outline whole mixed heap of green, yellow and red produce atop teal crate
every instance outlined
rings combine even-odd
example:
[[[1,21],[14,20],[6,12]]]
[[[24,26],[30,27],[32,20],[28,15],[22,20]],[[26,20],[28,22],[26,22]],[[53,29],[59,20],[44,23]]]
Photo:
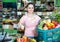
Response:
[[[42,29],[42,30],[50,30],[50,29],[56,28],[57,25],[58,25],[57,21],[47,19],[47,20],[44,20],[44,21],[40,21],[40,24],[38,25],[38,28]]]

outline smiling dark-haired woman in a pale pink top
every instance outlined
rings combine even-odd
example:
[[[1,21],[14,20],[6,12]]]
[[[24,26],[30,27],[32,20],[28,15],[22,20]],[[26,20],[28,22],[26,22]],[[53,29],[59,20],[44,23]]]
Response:
[[[24,15],[20,19],[20,21],[18,23],[19,27],[21,26],[22,28],[25,29],[24,35],[27,36],[28,38],[34,38],[37,36],[36,27],[41,19],[39,16],[34,14],[34,7],[35,6],[33,3],[28,3],[28,5],[27,5],[28,12],[26,15]]]

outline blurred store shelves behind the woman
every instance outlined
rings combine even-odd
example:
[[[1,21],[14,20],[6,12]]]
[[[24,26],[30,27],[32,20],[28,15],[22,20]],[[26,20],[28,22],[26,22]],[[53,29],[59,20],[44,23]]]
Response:
[[[60,14],[60,0],[0,0],[0,28],[17,28],[19,19],[27,13],[24,8],[29,2],[35,4],[35,14],[42,19]]]

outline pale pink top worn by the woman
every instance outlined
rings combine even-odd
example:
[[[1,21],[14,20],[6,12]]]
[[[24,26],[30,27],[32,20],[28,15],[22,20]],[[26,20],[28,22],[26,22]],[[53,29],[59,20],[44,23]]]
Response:
[[[24,24],[25,27],[25,36],[37,36],[37,32],[36,32],[36,26],[38,25],[39,21],[40,21],[40,17],[37,15],[34,15],[34,20],[30,19],[27,15],[24,15],[21,19],[20,19],[20,23]]]

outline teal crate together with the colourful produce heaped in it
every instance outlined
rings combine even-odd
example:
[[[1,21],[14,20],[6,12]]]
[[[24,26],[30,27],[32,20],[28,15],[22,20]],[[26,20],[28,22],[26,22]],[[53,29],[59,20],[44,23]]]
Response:
[[[54,18],[55,17],[55,18]],[[60,42],[60,15],[45,17],[38,25],[38,42]]]

